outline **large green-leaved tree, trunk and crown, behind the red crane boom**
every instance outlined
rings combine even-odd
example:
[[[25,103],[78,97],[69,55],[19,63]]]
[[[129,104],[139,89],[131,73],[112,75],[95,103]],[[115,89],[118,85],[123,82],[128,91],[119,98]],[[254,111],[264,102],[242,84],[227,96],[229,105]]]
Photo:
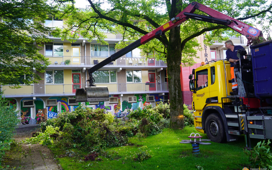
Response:
[[[73,30],[80,32],[80,35],[89,40],[95,39],[102,44],[107,44],[103,34],[103,30],[107,30],[123,35],[124,41],[117,44],[117,48],[125,47],[152,29],[168,22],[170,18],[175,17],[192,2],[181,0],[104,0],[95,3],[88,0],[89,7],[79,9],[74,7],[74,1],[67,0],[68,4],[64,4],[64,1],[59,1],[62,9],[59,17],[68,19],[67,29],[57,32],[61,33],[63,39],[75,40],[77,34],[71,35],[71,30]],[[249,18],[259,19],[258,21],[271,21],[271,3],[265,4],[265,0],[206,0],[197,2],[243,22]],[[109,8],[102,9],[103,4],[107,4]],[[195,13],[204,14],[201,11]],[[152,53],[157,59],[167,61],[171,128],[184,127],[180,64],[194,63],[194,56],[199,48],[197,36],[210,31],[207,35],[208,41],[206,41],[209,43],[215,38],[222,38],[222,31],[225,30],[227,30],[226,26],[188,20],[181,26],[166,32],[165,35],[139,47],[145,56],[148,57]],[[154,56],[151,55],[151,57]]]

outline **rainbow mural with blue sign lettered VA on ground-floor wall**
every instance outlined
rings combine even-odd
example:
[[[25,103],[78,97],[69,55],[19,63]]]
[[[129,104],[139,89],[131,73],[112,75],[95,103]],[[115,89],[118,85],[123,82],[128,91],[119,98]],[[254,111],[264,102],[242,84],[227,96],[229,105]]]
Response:
[[[61,113],[63,113],[63,112],[70,112],[71,111],[70,106],[68,106],[68,98],[69,97],[50,97],[48,99],[57,99],[57,103],[59,103],[59,102],[61,103],[60,110],[61,110]],[[57,106],[47,107],[47,110],[48,110],[48,118],[49,119],[58,115],[58,107]]]

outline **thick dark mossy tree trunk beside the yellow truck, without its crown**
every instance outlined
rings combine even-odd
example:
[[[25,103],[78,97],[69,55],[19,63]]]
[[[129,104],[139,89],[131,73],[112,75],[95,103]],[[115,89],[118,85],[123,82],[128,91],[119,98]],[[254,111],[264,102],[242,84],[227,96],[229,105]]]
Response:
[[[180,27],[169,32],[169,45],[167,47],[167,75],[170,99],[170,128],[183,129],[183,99],[180,84],[181,64],[181,38]]]

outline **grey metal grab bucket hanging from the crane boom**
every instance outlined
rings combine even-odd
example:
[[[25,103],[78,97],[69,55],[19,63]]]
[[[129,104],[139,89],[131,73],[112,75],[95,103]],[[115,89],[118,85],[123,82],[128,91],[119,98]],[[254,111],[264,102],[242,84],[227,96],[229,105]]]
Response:
[[[85,87],[76,89],[76,102],[109,101],[108,87]]]

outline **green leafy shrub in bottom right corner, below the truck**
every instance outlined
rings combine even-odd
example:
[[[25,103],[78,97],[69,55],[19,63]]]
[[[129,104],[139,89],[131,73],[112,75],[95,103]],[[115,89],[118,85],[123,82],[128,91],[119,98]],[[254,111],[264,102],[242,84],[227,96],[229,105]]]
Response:
[[[272,169],[272,152],[271,147],[269,146],[270,140],[267,141],[267,143],[264,141],[259,141],[257,145],[249,150],[245,149],[244,152],[247,156],[249,156],[249,160],[255,168],[258,166],[258,168],[262,169]]]

